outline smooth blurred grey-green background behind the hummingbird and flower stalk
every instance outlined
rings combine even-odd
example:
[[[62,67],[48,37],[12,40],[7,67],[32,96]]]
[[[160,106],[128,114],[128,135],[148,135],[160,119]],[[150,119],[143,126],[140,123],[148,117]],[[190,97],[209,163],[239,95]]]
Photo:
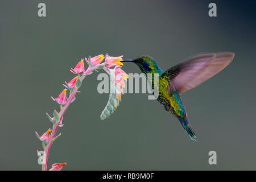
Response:
[[[232,51],[224,71],[182,95],[197,142],[148,94],[125,94],[102,122],[109,95],[97,92],[94,73],[64,115],[48,168],[67,162],[64,170],[255,170],[255,18],[256,1],[1,1],[0,169],[41,169],[35,131],[52,126],[45,113],[58,106],[50,96],[74,77],[69,69],[81,58],[151,55],[166,70],[195,53]],[[123,69],[140,72],[135,64]],[[217,165],[210,166],[212,150]]]

